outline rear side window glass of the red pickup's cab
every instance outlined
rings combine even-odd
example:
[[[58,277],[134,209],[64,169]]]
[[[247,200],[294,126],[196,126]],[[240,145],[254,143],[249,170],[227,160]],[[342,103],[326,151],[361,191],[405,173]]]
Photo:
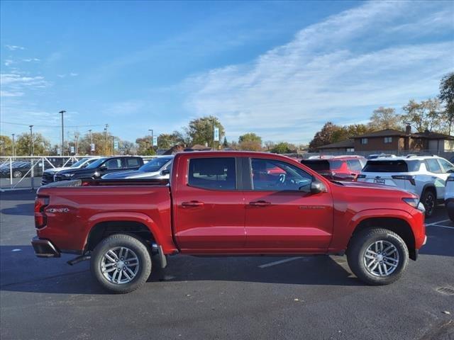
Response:
[[[236,190],[236,160],[234,157],[189,159],[187,183],[209,190]]]

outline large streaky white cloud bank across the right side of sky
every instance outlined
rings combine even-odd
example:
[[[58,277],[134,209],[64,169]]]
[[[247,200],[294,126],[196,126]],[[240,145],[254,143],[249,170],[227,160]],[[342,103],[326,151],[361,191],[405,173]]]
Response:
[[[191,77],[184,82],[187,108],[217,115],[230,138],[252,131],[264,140],[307,142],[327,120],[355,123],[374,107],[433,96],[453,69],[454,42],[411,38],[432,32],[434,22],[452,30],[453,11],[414,6],[366,3],[304,28],[250,64]],[[406,21],[417,25],[402,28]]]

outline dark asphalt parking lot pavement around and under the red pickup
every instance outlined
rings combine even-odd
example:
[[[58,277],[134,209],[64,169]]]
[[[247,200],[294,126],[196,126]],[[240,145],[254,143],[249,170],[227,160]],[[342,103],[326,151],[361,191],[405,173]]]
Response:
[[[87,261],[34,256],[33,192],[0,196],[2,340],[454,339],[454,224],[443,206],[392,285],[363,285],[342,256],[179,255],[165,270],[154,263],[140,290],[109,295]]]

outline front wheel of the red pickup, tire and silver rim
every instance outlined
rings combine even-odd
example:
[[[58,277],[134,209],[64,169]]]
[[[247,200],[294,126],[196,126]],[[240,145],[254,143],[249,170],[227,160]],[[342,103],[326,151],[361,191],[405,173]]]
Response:
[[[350,240],[348,266],[369,285],[389,285],[409,263],[409,250],[398,234],[388,229],[365,229]]]

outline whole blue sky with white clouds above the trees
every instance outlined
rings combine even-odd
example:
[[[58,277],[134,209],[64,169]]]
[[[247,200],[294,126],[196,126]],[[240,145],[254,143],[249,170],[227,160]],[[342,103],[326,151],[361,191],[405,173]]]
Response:
[[[108,123],[133,141],[216,115],[228,140],[305,143],[327,120],[436,96],[454,70],[453,1],[0,6],[1,122],[55,143],[60,110],[71,134]]]

